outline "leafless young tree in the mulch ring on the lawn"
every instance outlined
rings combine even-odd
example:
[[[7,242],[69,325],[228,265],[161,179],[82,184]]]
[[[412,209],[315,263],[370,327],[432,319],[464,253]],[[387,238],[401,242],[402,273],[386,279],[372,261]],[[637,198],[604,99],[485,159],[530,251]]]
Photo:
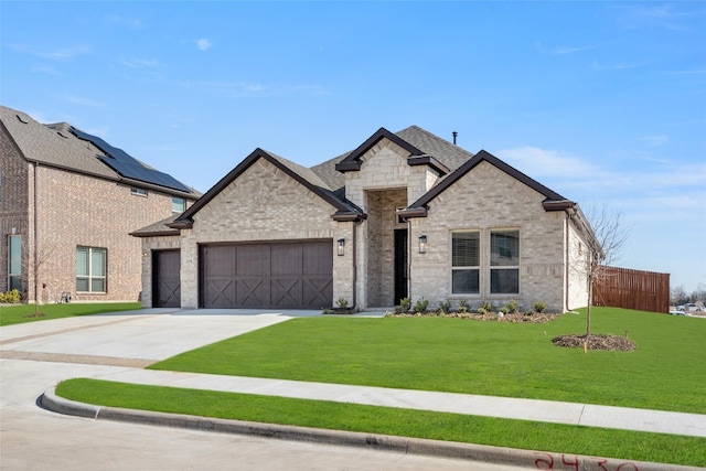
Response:
[[[580,212],[580,210],[578,211]],[[588,340],[591,334],[591,304],[595,285],[608,276],[606,267],[616,264],[620,258],[629,232],[624,226],[622,212],[609,211],[606,205],[600,210],[590,207],[588,216],[579,217],[579,220],[588,222],[588,224],[576,224],[582,235],[582,240],[579,244],[585,244],[586,250],[579,250],[582,253],[581,259],[578,264],[573,265],[571,269],[585,277],[588,285],[586,303],[586,339]]]

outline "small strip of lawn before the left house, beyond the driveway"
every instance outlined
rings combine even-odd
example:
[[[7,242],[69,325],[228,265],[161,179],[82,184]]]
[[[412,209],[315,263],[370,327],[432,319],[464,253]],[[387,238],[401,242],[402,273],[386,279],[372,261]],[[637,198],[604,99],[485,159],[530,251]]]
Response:
[[[101,314],[106,312],[132,311],[142,307],[139,302],[72,302],[68,304],[0,304],[0,327],[74,315]],[[34,311],[43,315],[35,315]]]

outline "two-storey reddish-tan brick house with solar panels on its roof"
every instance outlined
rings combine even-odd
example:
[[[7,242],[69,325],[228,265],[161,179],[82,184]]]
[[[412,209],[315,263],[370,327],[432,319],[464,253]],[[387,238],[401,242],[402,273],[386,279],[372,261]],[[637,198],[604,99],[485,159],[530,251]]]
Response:
[[[201,194],[71,125],[0,113],[0,291],[137,301],[141,247],[129,232]]]

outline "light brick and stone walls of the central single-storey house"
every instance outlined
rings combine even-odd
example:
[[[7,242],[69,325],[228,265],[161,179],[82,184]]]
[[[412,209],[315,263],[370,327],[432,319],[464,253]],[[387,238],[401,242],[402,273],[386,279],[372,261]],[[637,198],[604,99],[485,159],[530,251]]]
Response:
[[[442,182],[436,167],[410,164],[409,150],[387,138],[371,144],[357,164],[345,167],[345,197],[364,217],[336,222],[336,208],[272,162],[260,158],[235,174],[231,183],[208,195],[190,215],[193,224],[172,238],[148,237],[143,251],[181,247],[182,307],[199,307],[199,246],[215,243],[330,239],[333,251],[333,300],[344,298],[359,308],[392,308],[395,298],[395,231],[408,240],[408,297],[425,298],[430,308],[450,300],[502,307],[515,300],[524,309],[543,301],[552,311],[585,306],[586,283],[570,272],[579,255],[581,234],[570,220],[574,203],[532,182],[516,171],[480,160],[445,191],[429,200],[426,216],[399,220],[396,210],[411,207]],[[248,158],[249,159],[249,158]],[[357,159],[357,157],[356,157]],[[495,158],[492,158],[495,159]],[[492,160],[491,159],[491,160]],[[493,160],[496,161],[496,160]],[[474,163],[469,161],[470,163]],[[513,173],[515,172],[515,173]],[[336,186],[338,188],[338,186]],[[547,211],[548,192],[560,203]],[[565,205],[565,203],[567,205]],[[520,234],[520,292],[490,293],[491,232]],[[480,234],[480,292],[451,292],[451,234]],[[419,236],[427,250],[418,250]],[[335,242],[346,240],[344,256]],[[150,292],[150,264],[143,261],[143,292]],[[146,302],[149,302],[146,296]]]

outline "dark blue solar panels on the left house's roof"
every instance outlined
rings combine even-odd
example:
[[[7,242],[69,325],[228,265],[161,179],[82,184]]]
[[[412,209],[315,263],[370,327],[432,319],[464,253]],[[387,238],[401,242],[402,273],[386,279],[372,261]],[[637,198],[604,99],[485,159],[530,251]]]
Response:
[[[145,167],[122,149],[110,146],[99,137],[79,131],[76,128],[72,128],[72,132],[78,139],[87,140],[100,149],[105,153],[105,156],[98,157],[100,161],[118,172],[121,176],[191,193],[191,190],[172,175]]]

